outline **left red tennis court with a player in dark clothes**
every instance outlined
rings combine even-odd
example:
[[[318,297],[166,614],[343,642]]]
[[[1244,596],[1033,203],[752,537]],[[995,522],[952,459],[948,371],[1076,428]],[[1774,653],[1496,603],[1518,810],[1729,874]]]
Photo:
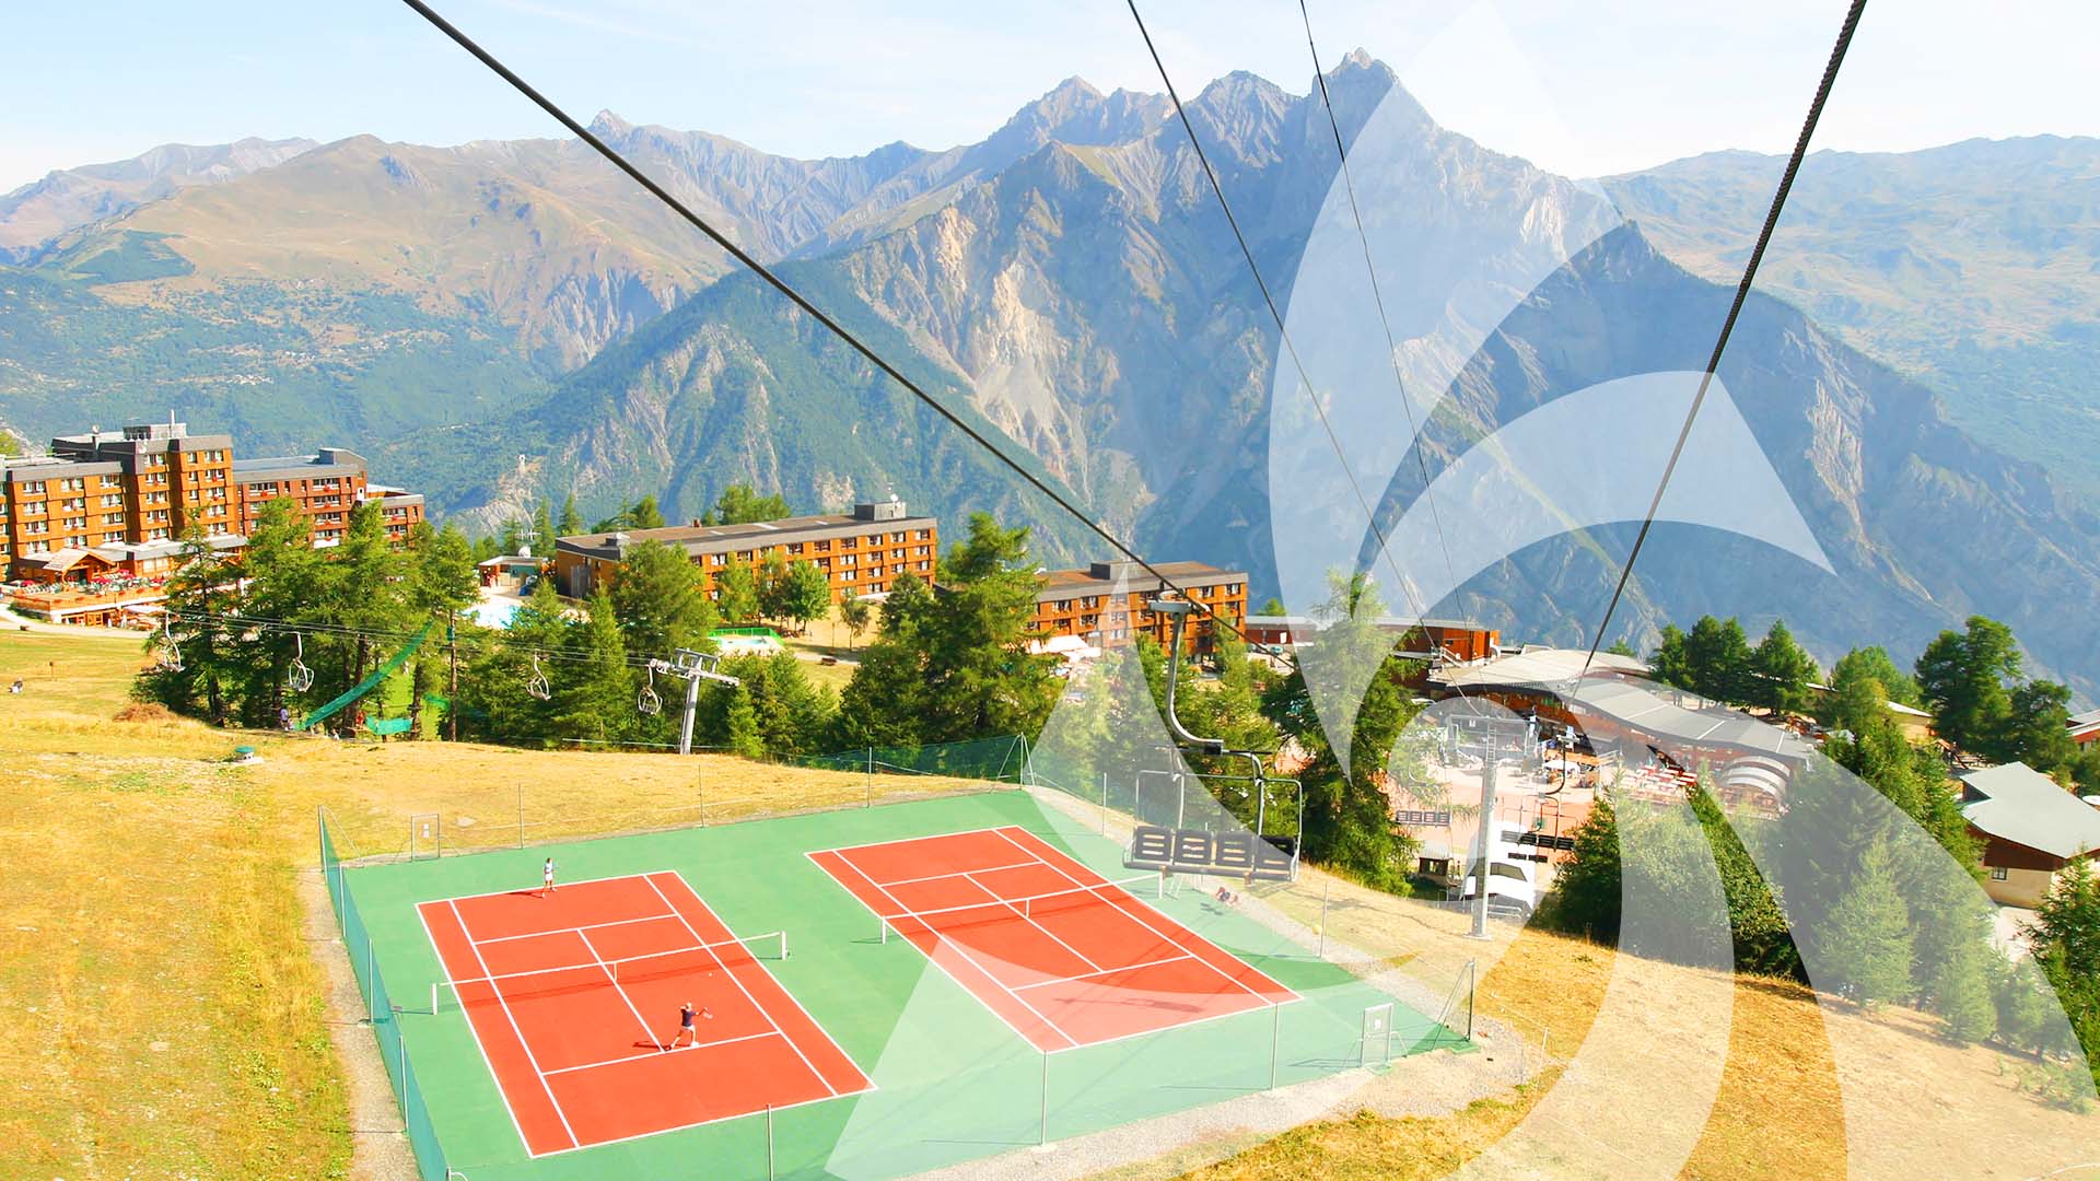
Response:
[[[531,1156],[869,1089],[676,872],[418,910]]]

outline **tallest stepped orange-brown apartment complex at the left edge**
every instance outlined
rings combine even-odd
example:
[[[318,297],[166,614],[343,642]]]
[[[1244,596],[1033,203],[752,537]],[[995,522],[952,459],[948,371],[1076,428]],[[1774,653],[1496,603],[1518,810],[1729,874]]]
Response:
[[[424,511],[422,496],[370,485],[363,456],[340,448],[237,460],[231,435],[193,435],[185,422],[97,429],[0,460],[0,569],[17,582],[153,578],[191,530],[237,551],[273,496],[298,498],[317,546],[338,542],[368,496],[384,498],[397,540]]]

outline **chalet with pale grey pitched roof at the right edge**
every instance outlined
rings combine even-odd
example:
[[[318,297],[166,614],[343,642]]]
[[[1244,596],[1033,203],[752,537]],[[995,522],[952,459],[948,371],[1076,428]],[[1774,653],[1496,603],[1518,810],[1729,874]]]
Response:
[[[1961,815],[1982,841],[1984,893],[2035,906],[2071,862],[2100,853],[2100,809],[2026,763],[1961,775]]]

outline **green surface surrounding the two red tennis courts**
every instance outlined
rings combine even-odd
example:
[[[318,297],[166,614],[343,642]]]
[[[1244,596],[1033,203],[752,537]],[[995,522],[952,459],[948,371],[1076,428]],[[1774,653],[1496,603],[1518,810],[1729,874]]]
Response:
[[[869,908],[811,857],[991,828],[1033,834],[1046,843],[1046,855],[1069,853],[1105,878],[1130,876],[1119,845],[1021,790],[346,866],[332,883],[344,895],[346,927],[355,927],[346,944],[353,962],[368,958],[357,962],[361,977],[384,983],[374,1002],[380,1047],[397,1091],[407,1091],[403,1105],[424,1173],[433,1181],[443,1181],[445,1170],[468,1181],[766,1177],[769,1168],[773,1177],[905,1177],[1216,1103],[1270,1082],[1304,1082],[1350,1070],[1365,1053],[1373,1061],[1384,1055],[1382,1025],[1365,1049],[1365,1011],[1392,998],[1218,904],[1208,878],[1189,878],[1166,897],[1153,891],[1138,897],[1172,920],[1159,923],[1161,929],[1201,937],[1296,1000],[1046,1055],[987,1007],[983,990],[958,983],[909,939],[884,941]],[[430,986],[445,981],[447,971],[418,906],[533,891],[548,855],[571,883],[676,874],[697,895],[695,908],[704,904],[729,931],[785,931],[790,956],[769,958],[764,969],[874,1089],[775,1110],[771,1133],[769,1114],[754,1112],[531,1156],[468,1013],[452,1002],[430,1013]],[[1176,998],[1109,994],[1098,1002],[1157,1007]],[[1430,1017],[1399,1004],[1390,1028],[1394,1057],[1460,1044]],[[483,1036],[489,1030],[485,1023]]]

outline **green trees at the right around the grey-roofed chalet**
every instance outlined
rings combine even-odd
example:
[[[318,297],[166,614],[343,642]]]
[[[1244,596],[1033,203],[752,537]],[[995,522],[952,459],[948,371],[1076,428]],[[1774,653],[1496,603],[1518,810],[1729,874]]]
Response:
[[[1970,618],[1945,630],[1903,670],[1882,647],[1848,651],[1831,668],[1827,693],[1796,696],[1814,675],[1787,651],[1783,624],[1751,647],[1737,620],[1703,618],[1690,633],[1665,628],[1655,672],[1690,691],[1770,710],[1812,710],[1829,725],[1827,763],[1789,786],[1777,820],[1726,815],[1712,778],[1690,792],[1690,817],[1640,803],[1598,801],[1575,832],[1539,918],[1562,931],[1619,941],[1630,880],[1682,880],[1712,855],[1720,872],[1732,958],[1739,971],[1808,979],[1804,950],[1840,975],[1850,1000],[1913,1004],[1936,1015],[1959,1042],[1997,1040],[2060,1053],[2048,1017],[2048,981],[2071,1017],[2073,1036],[2100,1061],[2100,885],[2079,862],[2056,885],[2033,929],[2033,956],[2014,960],[1991,944],[1993,908],[1964,878],[1982,878],[1982,849],[1961,815],[1959,784],[1940,748],[1911,742],[1888,702],[1926,708],[1957,750],[1991,761],[2026,761],[2090,784],[2092,759],[2066,733],[2068,691],[2022,677],[2010,628]],[[1798,649],[1796,649],[1798,651]],[[1869,784],[1882,803],[1848,790]],[[1919,851],[1917,832],[1959,868]],[[1930,847],[1928,847],[1930,849]],[[1779,868],[1772,880],[1758,868]],[[1793,899],[1789,923],[1787,899]],[[1672,948],[1630,948],[1670,956]],[[2050,1095],[2075,1089],[2039,1068]]]

